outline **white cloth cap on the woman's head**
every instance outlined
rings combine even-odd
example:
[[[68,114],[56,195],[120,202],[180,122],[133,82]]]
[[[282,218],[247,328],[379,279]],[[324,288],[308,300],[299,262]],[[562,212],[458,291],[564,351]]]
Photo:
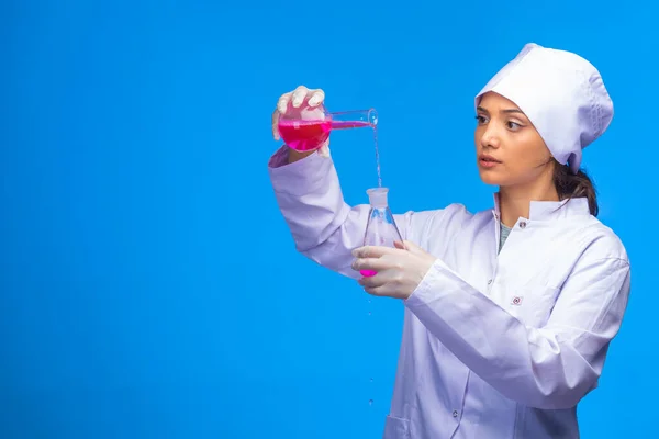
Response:
[[[478,93],[513,101],[530,120],[554,158],[577,173],[581,150],[600,137],[613,119],[613,102],[597,69],[566,50],[529,43]]]

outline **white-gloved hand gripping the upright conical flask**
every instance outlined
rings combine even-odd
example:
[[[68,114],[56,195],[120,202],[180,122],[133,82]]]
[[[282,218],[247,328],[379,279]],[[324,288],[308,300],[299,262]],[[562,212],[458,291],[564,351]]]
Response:
[[[365,246],[353,250],[357,259],[353,269],[372,270],[377,274],[359,279],[364,290],[372,295],[407,299],[426,275],[435,258],[414,243],[395,243],[396,248]]]

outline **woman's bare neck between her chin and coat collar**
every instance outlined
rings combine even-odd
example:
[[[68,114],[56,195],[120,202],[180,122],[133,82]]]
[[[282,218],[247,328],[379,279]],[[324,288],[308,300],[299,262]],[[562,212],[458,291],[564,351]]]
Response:
[[[528,218],[532,201],[558,201],[552,182],[535,187],[505,187],[499,189],[501,222],[512,227],[520,217]]]

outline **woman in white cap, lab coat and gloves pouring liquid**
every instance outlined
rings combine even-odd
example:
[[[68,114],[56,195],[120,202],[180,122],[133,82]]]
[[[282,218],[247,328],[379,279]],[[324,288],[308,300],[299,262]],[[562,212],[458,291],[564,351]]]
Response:
[[[289,101],[323,101],[298,88]],[[269,171],[297,248],[402,300],[403,340],[386,439],[578,438],[629,294],[629,261],[595,215],[582,148],[608,126],[599,71],[527,44],[476,98],[481,179],[494,207],[396,215],[404,246],[361,247],[368,205],[348,206],[324,147],[282,146]],[[359,270],[378,274],[360,278]]]

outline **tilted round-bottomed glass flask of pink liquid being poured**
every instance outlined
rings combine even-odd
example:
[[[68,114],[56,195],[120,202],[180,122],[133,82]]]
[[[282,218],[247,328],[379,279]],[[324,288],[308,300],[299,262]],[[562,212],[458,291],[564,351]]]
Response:
[[[375,109],[331,113],[323,104],[309,106],[304,102],[295,109],[289,102],[286,114],[279,116],[278,128],[288,147],[308,151],[320,148],[333,130],[375,127],[377,124]]]

